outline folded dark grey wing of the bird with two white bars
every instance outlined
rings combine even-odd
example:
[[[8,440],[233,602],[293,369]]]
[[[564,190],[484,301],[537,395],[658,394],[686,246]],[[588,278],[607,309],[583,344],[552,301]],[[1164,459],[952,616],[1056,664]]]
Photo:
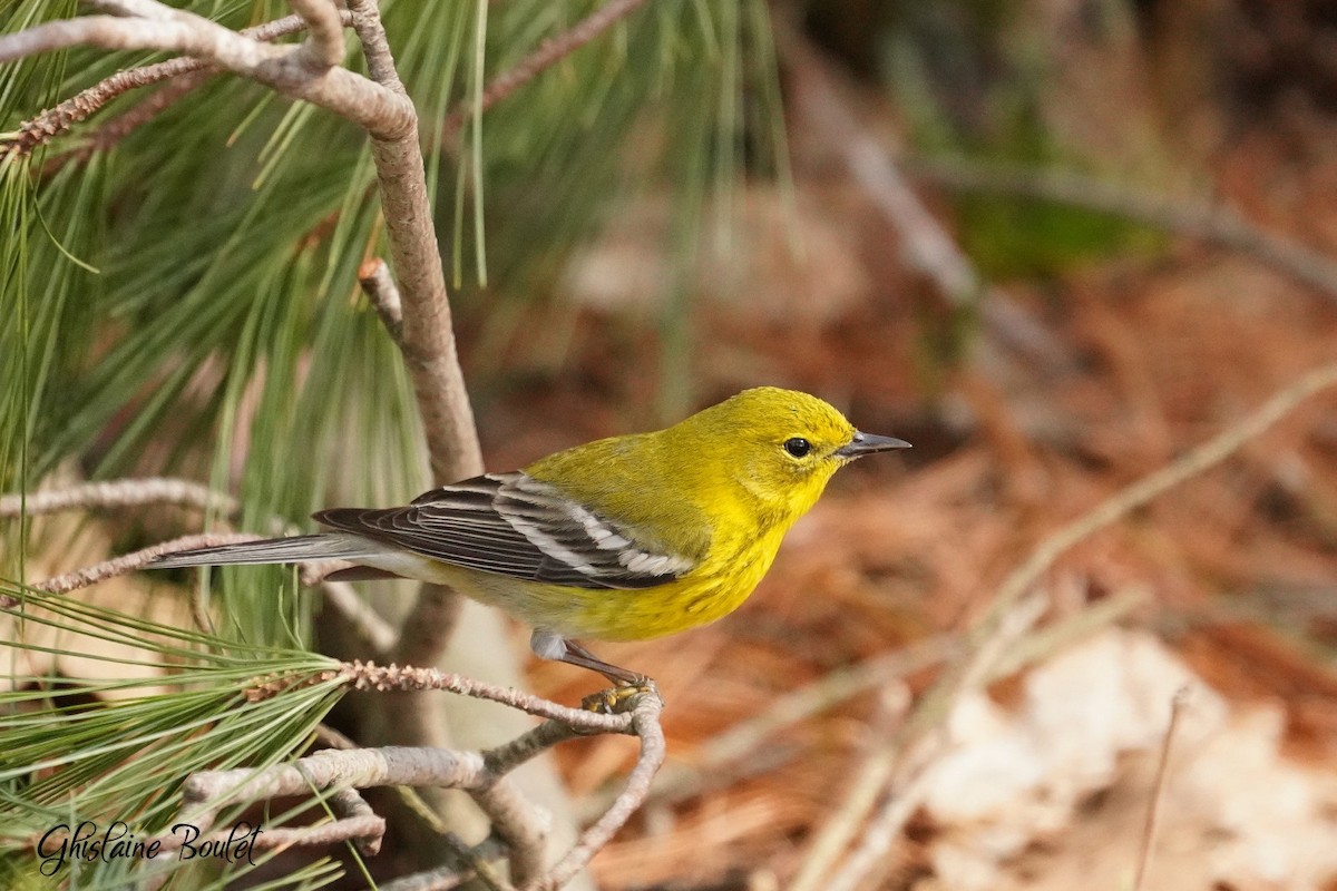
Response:
[[[695,565],[521,472],[433,489],[404,508],[314,516],[457,566],[574,588],[651,588]]]

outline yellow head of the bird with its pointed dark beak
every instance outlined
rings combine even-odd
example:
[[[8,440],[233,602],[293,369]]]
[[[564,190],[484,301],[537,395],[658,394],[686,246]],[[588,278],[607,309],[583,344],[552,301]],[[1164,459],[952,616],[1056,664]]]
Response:
[[[854,458],[909,448],[904,439],[856,430],[814,395],[779,387],[743,390],[678,426],[709,441],[721,458],[715,469],[783,514],[777,518],[785,525],[806,513],[832,474]]]

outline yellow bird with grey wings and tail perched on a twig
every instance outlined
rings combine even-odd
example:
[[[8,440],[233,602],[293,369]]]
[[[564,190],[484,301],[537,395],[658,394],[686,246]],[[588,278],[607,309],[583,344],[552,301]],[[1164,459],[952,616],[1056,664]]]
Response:
[[[832,476],[905,449],[828,402],[754,387],[673,426],[598,439],[398,508],[313,514],[328,532],[163,554],[154,569],[342,560],[329,578],[416,578],[532,628],[541,659],[643,688],[583,640],[647,640],[731,613]]]

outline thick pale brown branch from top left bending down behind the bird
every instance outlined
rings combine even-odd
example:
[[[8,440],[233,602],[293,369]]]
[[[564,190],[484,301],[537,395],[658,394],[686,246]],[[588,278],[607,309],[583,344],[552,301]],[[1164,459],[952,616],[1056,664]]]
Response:
[[[427,434],[433,480],[444,484],[481,473],[481,449],[459,363],[445,273],[432,226],[417,115],[394,71],[374,0],[350,0],[349,13],[376,80],[341,67],[313,72],[310,53],[301,48],[267,45],[156,0],[116,0],[115,8],[140,17],[88,16],[0,36],[0,61],[80,44],[185,52],[285,95],[330,108],[362,126],[372,138],[402,301],[400,343]],[[302,8],[314,15],[316,7]],[[322,20],[321,27],[329,31],[330,20]],[[455,596],[425,588],[406,625],[421,633],[401,636],[401,651],[412,655],[416,663],[435,661],[444,649],[449,618],[456,609]],[[410,648],[410,644],[417,647]]]

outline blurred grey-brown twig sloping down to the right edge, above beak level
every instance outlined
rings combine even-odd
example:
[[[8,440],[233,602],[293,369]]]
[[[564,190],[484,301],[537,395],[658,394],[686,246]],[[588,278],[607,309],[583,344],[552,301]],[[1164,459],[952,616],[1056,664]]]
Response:
[[[1269,232],[1230,210],[1183,198],[1115,186],[1067,171],[984,167],[965,160],[906,162],[912,176],[959,191],[1019,195],[1122,216],[1177,235],[1247,254],[1274,270],[1337,298],[1337,262],[1289,238]]]

